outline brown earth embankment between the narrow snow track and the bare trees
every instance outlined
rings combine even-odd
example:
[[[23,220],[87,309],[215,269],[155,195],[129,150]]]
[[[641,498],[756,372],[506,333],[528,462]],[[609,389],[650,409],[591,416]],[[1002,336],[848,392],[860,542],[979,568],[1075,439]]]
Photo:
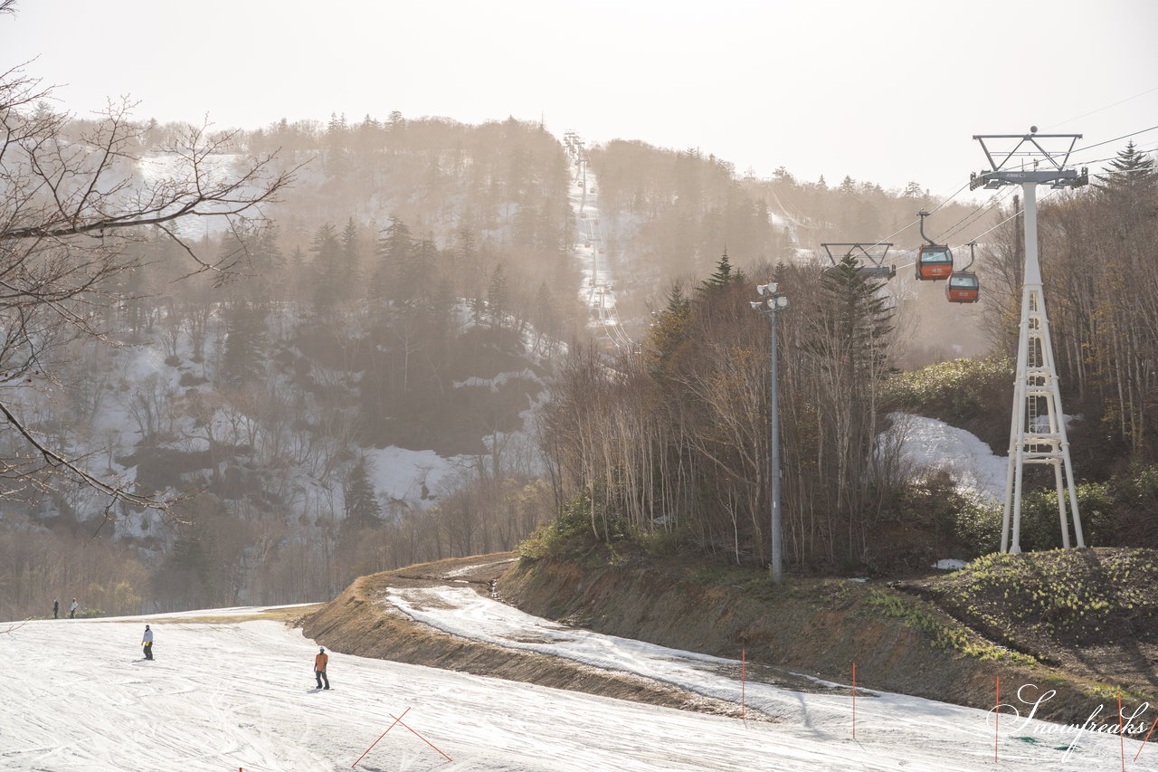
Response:
[[[1065,722],[1084,721],[1119,687],[1130,704],[1155,704],[1158,671],[1138,656],[1137,640],[1073,648],[1055,641],[1051,667],[906,584],[790,577],[775,588],[756,571],[687,556],[602,568],[547,559],[518,565],[503,581],[505,596],[532,614],[723,657],[743,648],[757,664],[844,684],[855,662],[858,686],[988,709],[999,676],[1002,702],[1019,705],[1014,693],[1025,684],[1035,685],[1023,692],[1031,700],[1054,690],[1038,715]]]

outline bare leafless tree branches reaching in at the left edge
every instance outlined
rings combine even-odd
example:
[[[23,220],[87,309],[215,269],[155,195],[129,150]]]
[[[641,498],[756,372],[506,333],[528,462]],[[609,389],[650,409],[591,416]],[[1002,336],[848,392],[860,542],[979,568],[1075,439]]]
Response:
[[[13,10],[0,2],[0,14]],[[110,500],[164,509],[171,501],[145,496],[87,471],[83,459],[36,431],[22,416],[22,395],[51,381],[50,352],[75,338],[108,341],[104,309],[124,303],[127,277],[140,264],[132,246],[163,233],[190,261],[185,275],[208,272],[222,282],[244,260],[198,254],[179,228],[215,218],[230,228],[263,219],[293,172],[278,170],[274,154],[234,169],[235,136],[188,128],[161,159],[161,174],[142,174],[134,155],[144,129],[133,104],[111,103],[95,122],[56,112],[51,88],[21,67],[0,74],[0,418],[21,439],[0,458],[0,498],[49,490],[66,480]]]

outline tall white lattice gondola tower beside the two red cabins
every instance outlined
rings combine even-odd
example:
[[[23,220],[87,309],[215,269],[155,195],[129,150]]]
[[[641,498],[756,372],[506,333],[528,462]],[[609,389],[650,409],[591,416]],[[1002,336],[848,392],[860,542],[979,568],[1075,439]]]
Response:
[[[990,170],[970,174],[969,189],[975,190],[982,185],[992,189],[1019,184],[1025,195],[1025,275],[1021,285],[1021,323],[1010,423],[1010,465],[1005,478],[1005,512],[1002,517],[1002,552],[1021,552],[1021,482],[1026,464],[1049,464],[1054,467],[1062,545],[1069,548],[1070,531],[1065,520],[1067,494],[1062,483],[1064,468],[1070,511],[1073,514],[1073,533],[1077,537],[1077,546],[1084,547],[1073,466],[1070,463],[1070,444],[1065,437],[1065,422],[1062,418],[1057,370],[1054,366],[1041,267],[1038,262],[1036,198],[1039,184],[1049,183],[1051,188],[1077,188],[1090,181],[1085,168],[1080,174],[1065,168],[1073,145],[1082,134],[1039,134],[1038,128],[1031,126],[1028,134],[974,134],[973,138],[981,143]],[[1046,150],[1043,140],[1055,150]],[[1003,150],[990,150],[987,143]],[[994,159],[995,153],[1001,158],[1001,162]]]

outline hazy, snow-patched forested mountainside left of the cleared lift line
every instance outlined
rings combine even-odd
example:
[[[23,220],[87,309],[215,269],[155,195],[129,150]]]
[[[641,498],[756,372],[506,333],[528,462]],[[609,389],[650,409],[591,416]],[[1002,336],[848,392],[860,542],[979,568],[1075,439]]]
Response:
[[[449,125],[417,123],[411,138]],[[453,141],[490,131],[453,126]],[[75,143],[90,129],[68,124]],[[132,243],[124,299],[98,308],[112,345],[58,348],[54,383],[22,386],[10,403],[94,474],[186,497],[169,517],[109,510],[86,487],[10,501],[9,607],[74,574],[87,604],[110,612],[328,597],[358,573],[510,548],[529,533],[549,507],[528,412],[573,316],[545,278],[578,279],[556,243],[565,188],[542,182],[565,173],[558,143],[513,121],[491,129],[498,138],[471,152],[391,145],[376,165],[357,147],[317,148],[266,212],[276,219],[193,221],[198,249],[233,269],[226,282],[182,277],[163,232]],[[544,138],[537,153],[520,144]],[[145,125],[135,139],[139,166],[117,169],[132,184],[183,156],[175,129]],[[244,139],[205,162],[243,167]],[[457,167],[432,169],[449,155]],[[552,204],[562,225],[532,217]],[[19,438],[5,439],[17,452]],[[90,560],[75,560],[94,530]]]

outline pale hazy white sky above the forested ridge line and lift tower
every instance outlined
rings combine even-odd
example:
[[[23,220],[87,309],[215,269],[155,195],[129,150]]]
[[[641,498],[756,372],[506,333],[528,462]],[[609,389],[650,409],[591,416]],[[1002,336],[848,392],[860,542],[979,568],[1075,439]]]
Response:
[[[32,57],[85,116],[256,128],[542,117],[560,136],[699,147],[769,176],[950,194],[975,133],[1158,125],[1158,0],[19,0],[0,68]],[[1135,137],[1158,147],[1158,130]],[[1113,155],[1124,140],[1080,154]]]

